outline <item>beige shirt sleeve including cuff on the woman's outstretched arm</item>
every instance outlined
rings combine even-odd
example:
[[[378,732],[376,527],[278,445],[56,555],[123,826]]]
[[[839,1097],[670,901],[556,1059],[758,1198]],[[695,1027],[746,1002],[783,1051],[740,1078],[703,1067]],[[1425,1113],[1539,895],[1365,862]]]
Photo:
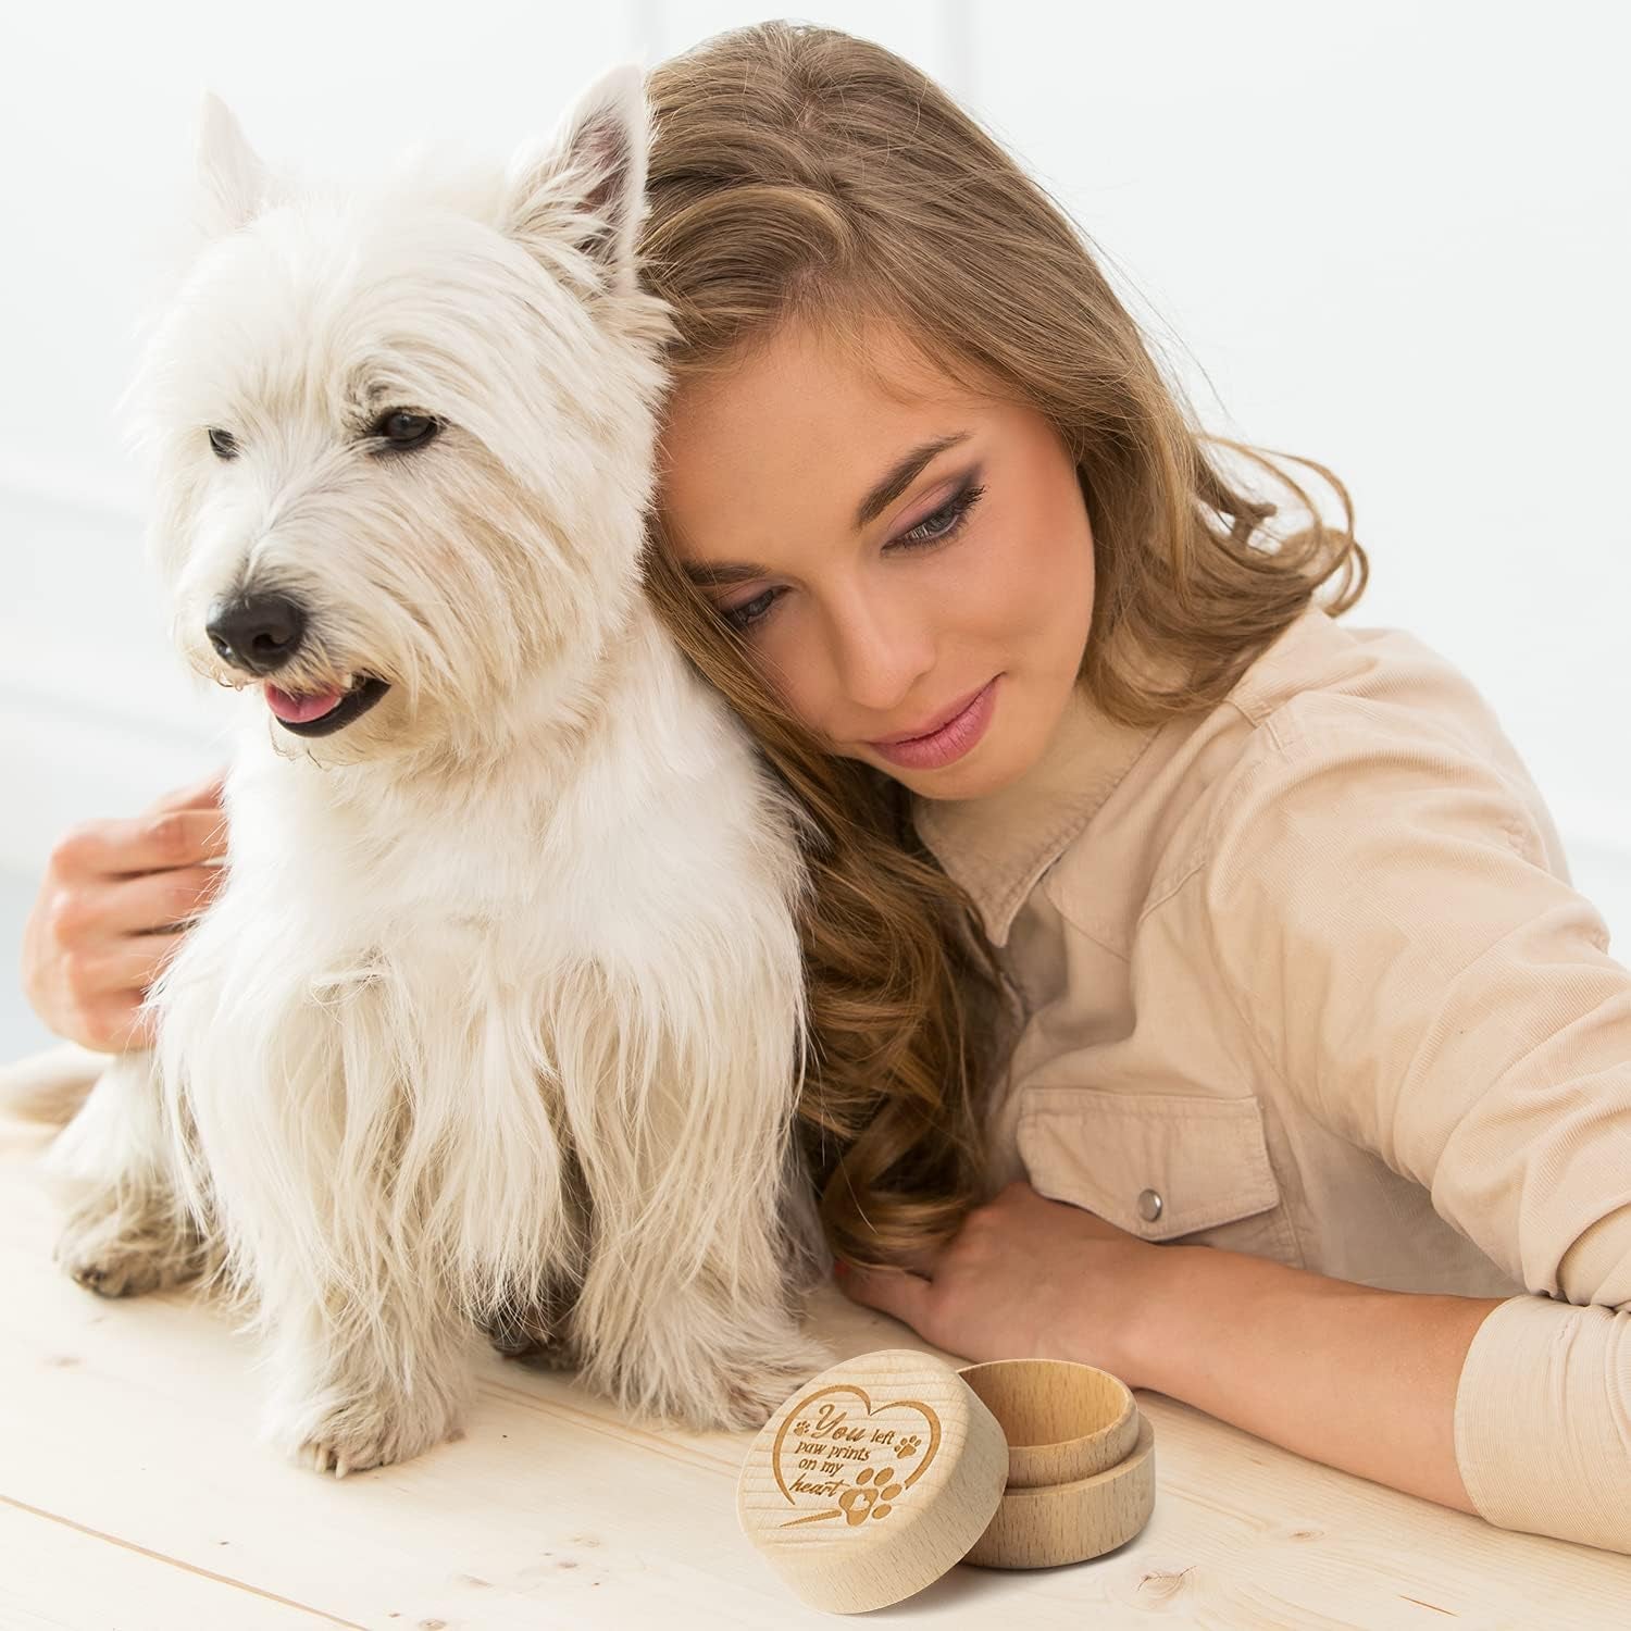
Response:
[[[1458,1381],[1474,1509],[1631,1553],[1631,970],[1536,802],[1453,732],[1302,693],[1220,791],[1200,935],[1284,1090],[1528,1287]]]

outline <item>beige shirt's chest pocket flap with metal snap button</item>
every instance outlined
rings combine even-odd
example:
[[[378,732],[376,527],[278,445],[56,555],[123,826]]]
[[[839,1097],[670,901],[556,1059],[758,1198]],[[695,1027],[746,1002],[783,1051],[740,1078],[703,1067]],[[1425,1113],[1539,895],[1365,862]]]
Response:
[[[1031,1187],[1148,1241],[1218,1246],[1302,1267],[1253,1096],[1019,1093]]]

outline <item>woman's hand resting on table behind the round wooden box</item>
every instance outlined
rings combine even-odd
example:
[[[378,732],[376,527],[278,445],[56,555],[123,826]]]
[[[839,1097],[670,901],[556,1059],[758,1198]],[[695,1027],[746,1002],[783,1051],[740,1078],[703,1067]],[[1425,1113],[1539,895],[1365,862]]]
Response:
[[[1075,1359],[1140,1386],[1122,1339],[1135,1329],[1160,1249],[1016,1178],[913,1269],[840,1264],[837,1279],[855,1302],[970,1362]]]

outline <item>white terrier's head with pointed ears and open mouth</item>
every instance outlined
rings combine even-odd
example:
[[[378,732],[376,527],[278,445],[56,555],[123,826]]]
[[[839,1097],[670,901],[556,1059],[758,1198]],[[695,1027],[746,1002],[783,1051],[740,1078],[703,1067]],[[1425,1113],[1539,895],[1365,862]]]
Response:
[[[670,333],[648,140],[626,65],[507,166],[295,184],[206,95],[204,243],[122,406],[175,639],[281,749],[493,752],[626,620]]]

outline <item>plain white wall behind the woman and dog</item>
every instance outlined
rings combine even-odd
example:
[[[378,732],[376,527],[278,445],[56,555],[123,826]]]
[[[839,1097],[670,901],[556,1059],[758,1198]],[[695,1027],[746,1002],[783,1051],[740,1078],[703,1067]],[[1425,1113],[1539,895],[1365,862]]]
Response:
[[[502,155],[610,62],[775,15],[723,0],[7,7],[0,954],[57,832],[134,812],[222,757],[215,698],[163,641],[142,480],[113,419],[201,90],[269,158],[315,171],[365,171],[424,135]],[[1372,558],[1347,620],[1409,626],[1473,677],[1626,957],[1631,8],[786,15],[879,39],[946,83],[1091,233],[1210,429],[1342,476]]]

